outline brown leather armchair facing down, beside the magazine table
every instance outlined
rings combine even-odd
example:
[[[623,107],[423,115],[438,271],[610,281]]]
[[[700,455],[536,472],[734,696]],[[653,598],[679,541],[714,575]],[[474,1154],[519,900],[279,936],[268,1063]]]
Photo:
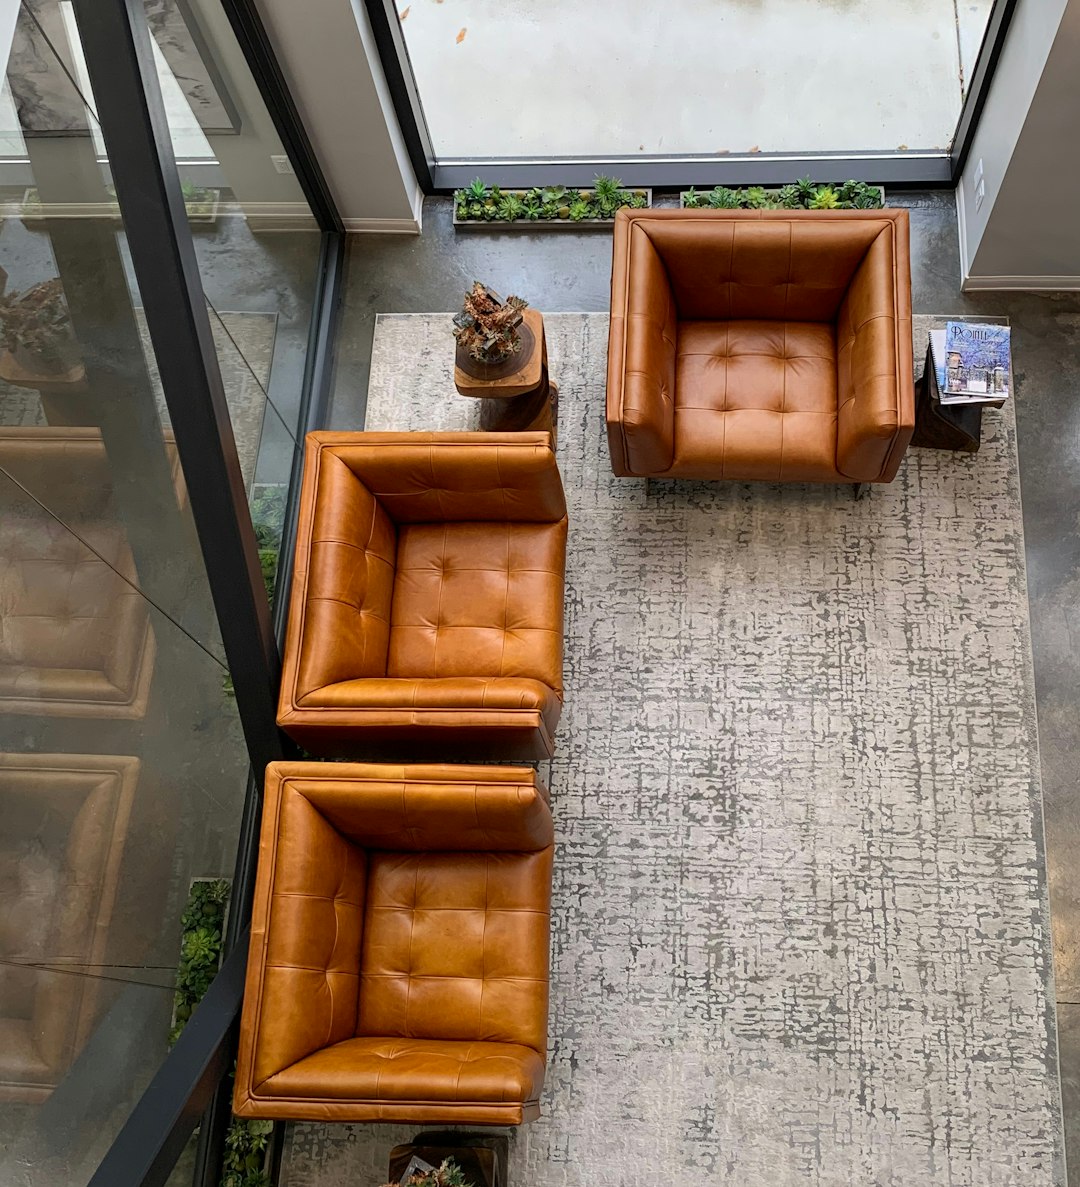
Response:
[[[906,210],[621,210],[617,475],[891,482],[915,425]]]

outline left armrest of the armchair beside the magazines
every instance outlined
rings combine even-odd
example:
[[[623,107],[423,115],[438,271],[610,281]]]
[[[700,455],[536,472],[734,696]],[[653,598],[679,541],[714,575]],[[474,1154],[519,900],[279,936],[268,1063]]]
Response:
[[[660,254],[642,226],[616,216],[606,414],[617,475],[671,469],[676,335],[675,299]]]

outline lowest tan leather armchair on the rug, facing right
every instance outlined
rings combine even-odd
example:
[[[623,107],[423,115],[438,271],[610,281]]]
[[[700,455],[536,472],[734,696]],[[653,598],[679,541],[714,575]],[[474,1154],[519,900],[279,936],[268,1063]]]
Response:
[[[531,768],[272,763],[236,1113],[539,1116],[552,855]]]

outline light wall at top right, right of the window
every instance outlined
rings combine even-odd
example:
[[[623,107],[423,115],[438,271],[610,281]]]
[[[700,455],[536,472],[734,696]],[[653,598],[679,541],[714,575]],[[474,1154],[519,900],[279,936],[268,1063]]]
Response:
[[[1080,0],[1019,0],[957,190],[966,290],[1080,288],[1078,68]]]

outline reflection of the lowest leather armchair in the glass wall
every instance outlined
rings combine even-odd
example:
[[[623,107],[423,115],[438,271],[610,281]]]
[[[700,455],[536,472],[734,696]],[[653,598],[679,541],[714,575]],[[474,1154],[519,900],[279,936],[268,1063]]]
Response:
[[[39,1102],[97,1021],[139,760],[0,754],[0,1100]],[[50,969],[20,967],[47,965]]]

